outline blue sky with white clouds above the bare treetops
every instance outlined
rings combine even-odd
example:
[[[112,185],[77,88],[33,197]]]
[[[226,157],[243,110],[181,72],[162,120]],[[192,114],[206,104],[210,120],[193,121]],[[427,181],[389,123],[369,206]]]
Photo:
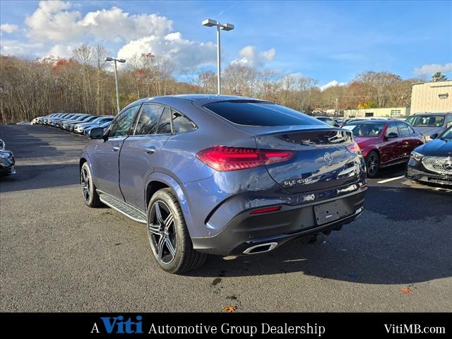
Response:
[[[174,76],[246,64],[309,76],[321,88],[363,71],[452,78],[452,1],[0,1],[0,53],[69,57],[83,42],[114,57],[169,57]]]

